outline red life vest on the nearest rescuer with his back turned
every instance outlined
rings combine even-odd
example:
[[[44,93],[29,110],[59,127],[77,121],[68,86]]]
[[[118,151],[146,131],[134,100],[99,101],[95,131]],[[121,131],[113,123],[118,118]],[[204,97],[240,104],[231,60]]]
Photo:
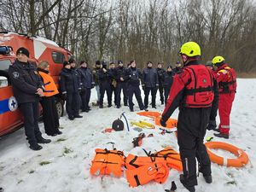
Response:
[[[183,67],[189,72],[191,80],[184,90],[184,107],[208,108],[213,101],[212,73],[204,65],[192,65]]]

